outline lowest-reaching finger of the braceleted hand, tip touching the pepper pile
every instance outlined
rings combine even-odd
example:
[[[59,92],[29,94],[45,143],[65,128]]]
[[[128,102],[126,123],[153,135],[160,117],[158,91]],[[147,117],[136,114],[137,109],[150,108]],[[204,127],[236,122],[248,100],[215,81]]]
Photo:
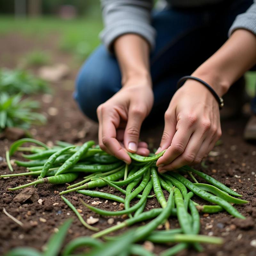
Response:
[[[188,141],[188,145],[184,150],[183,154],[178,156],[170,164],[164,165],[158,168],[159,172],[164,172],[165,170],[173,171],[186,164],[192,164],[196,158],[197,153],[199,152],[201,145],[206,137],[207,133],[195,132],[192,134]]]

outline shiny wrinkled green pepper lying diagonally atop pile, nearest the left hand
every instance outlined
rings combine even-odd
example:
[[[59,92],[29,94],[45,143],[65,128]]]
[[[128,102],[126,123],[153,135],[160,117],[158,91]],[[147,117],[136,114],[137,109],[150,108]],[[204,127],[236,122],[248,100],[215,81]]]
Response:
[[[94,145],[93,140],[89,140],[83,144],[81,148],[79,148],[76,153],[68,158],[68,160],[65,161],[64,164],[60,166],[60,169],[55,173],[55,175],[59,175],[66,170],[68,170],[71,166],[76,164],[79,159],[85,154],[85,152],[88,150],[88,148],[92,147]]]

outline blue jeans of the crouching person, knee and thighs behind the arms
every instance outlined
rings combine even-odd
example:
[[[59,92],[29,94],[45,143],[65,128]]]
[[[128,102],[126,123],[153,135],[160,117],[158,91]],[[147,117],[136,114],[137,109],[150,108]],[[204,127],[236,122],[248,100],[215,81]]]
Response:
[[[225,1],[224,1],[225,2]],[[181,76],[190,75],[228,39],[228,29],[252,0],[228,1],[205,8],[168,8],[152,15],[156,47],[150,55],[154,106],[164,116]],[[76,80],[75,99],[97,121],[97,107],[121,88],[116,57],[100,45],[85,61]]]

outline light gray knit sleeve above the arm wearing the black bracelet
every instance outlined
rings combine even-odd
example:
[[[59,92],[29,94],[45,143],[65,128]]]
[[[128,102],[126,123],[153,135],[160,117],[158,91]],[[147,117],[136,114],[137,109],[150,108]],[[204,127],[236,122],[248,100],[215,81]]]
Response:
[[[236,29],[243,28],[256,35],[256,0],[251,7],[244,13],[237,15],[231,28],[228,31],[230,36]]]

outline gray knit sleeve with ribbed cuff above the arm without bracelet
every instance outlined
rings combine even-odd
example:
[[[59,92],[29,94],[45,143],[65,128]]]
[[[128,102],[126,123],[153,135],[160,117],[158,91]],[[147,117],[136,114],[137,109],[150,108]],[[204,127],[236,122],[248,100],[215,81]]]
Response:
[[[115,39],[132,33],[155,46],[155,29],[151,26],[152,0],[101,0],[104,29],[100,38],[111,51]]]

